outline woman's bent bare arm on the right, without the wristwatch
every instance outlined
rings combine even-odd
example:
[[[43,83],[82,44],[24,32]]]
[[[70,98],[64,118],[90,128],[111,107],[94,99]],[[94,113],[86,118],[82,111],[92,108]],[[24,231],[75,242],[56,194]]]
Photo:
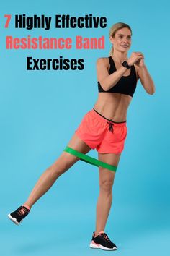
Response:
[[[140,78],[140,82],[143,85],[143,88],[148,94],[153,95],[153,93],[156,91],[156,88],[151,75],[149,74],[148,69],[144,64],[144,60],[140,59],[140,61],[135,66],[137,67],[138,77]]]

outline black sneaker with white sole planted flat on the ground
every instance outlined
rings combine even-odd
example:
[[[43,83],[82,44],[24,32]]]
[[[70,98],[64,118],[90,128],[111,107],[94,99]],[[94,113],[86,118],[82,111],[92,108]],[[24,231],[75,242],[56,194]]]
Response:
[[[91,248],[96,248],[96,249],[104,249],[107,251],[115,250],[117,249],[117,246],[110,241],[109,237],[107,236],[106,233],[99,232],[99,234],[95,237],[95,233],[93,233],[92,240],[90,243]]]

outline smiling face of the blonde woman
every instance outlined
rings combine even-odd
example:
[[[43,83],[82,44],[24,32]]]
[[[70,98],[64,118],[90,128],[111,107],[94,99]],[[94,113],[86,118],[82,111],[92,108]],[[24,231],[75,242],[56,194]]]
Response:
[[[131,46],[131,31],[128,27],[121,28],[115,33],[115,37],[110,37],[110,42],[113,43],[114,50],[124,53],[128,51]]]

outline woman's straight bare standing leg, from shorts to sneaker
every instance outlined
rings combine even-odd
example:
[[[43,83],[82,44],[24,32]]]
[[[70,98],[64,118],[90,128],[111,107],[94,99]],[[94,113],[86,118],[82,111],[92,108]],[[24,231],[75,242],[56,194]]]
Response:
[[[105,163],[118,166],[121,154],[99,153],[99,160]],[[97,220],[95,235],[104,231],[109,210],[112,205],[112,185],[115,178],[115,172],[99,167],[99,198],[97,201]]]

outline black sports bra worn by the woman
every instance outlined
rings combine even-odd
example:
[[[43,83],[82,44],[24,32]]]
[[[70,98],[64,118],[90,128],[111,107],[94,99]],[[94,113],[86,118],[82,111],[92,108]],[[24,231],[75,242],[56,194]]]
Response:
[[[116,67],[115,62],[113,61],[111,56],[109,56],[109,64],[109,74],[112,74],[116,71]],[[122,93],[133,97],[133,93],[135,93],[136,84],[137,77],[135,67],[133,65],[130,67],[130,75],[122,76],[120,80],[117,82],[117,84],[114,85],[112,88],[110,88],[109,90],[103,90],[102,86],[98,82],[98,90],[99,93]]]

